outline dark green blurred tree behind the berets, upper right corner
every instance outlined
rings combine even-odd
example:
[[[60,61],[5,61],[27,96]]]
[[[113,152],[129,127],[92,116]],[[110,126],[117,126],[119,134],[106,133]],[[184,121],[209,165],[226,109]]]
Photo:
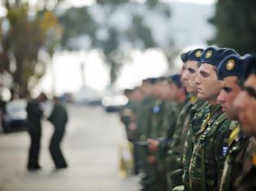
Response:
[[[216,28],[210,45],[230,47],[241,54],[256,52],[256,1],[218,1],[209,22]]]

